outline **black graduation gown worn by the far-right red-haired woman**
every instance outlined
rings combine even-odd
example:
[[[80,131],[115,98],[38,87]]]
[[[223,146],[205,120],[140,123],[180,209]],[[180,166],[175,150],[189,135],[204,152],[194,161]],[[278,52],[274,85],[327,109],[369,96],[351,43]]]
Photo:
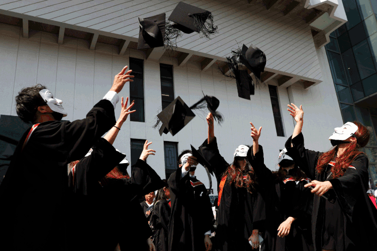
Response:
[[[293,147],[291,147],[291,142]],[[304,147],[302,133],[286,142],[288,153],[312,180],[326,181],[329,172],[316,172],[322,153]],[[315,250],[321,250],[324,239],[332,234],[335,250],[376,250],[377,210],[367,197],[368,158],[361,154],[355,158],[342,177],[331,179],[333,189],[323,197],[314,196],[312,234]],[[328,171],[331,166],[327,166]],[[338,223],[334,224],[332,218]]]

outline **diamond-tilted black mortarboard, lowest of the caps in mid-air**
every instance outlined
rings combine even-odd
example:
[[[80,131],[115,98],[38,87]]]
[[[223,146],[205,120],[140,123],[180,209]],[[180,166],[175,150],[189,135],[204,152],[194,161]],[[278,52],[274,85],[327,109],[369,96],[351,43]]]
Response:
[[[157,118],[162,122],[159,130],[162,133],[176,135],[187,123],[195,117],[194,112],[178,96],[165,109],[158,113]],[[159,123],[157,121],[156,125]]]

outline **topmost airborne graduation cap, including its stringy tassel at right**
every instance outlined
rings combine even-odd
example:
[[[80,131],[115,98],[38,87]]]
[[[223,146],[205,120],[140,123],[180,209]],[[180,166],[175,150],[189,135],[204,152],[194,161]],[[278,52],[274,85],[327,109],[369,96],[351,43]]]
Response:
[[[211,12],[183,2],[178,3],[168,20],[175,23],[175,28],[187,34],[198,32],[201,37],[210,39],[211,34],[217,33]]]

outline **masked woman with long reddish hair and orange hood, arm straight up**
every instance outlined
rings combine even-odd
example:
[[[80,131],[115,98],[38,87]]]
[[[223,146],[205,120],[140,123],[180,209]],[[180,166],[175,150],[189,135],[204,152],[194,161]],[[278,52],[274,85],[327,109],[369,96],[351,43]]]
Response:
[[[259,249],[265,205],[257,189],[254,170],[246,159],[249,147],[237,147],[233,163],[229,165],[220,155],[213,121],[209,113],[208,139],[199,150],[214,169],[219,186],[215,250]]]

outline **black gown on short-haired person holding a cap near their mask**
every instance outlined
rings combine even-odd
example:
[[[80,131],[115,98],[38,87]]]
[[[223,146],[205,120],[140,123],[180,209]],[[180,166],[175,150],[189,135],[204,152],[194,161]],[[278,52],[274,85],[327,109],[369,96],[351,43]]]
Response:
[[[205,233],[213,226],[214,215],[206,186],[181,169],[168,179],[171,199],[169,251],[205,250]]]

